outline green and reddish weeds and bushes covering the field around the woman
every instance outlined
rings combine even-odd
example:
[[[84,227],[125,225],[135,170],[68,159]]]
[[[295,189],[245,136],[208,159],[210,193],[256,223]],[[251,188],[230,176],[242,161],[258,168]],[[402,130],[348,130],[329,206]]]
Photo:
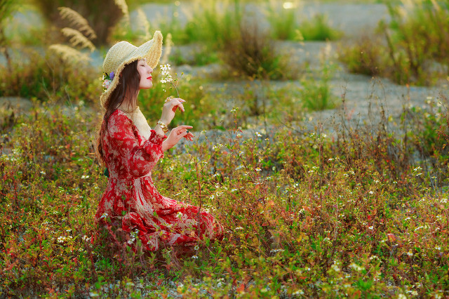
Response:
[[[47,2],[24,3],[51,11]],[[127,9],[138,10],[138,1],[129,2]],[[340,62],[321,55],[318,71],[307,63],[290,65],[273,46],[285,29],[264,32],[243,26],[250,20],[243,20],[245,13],[237,8],[246,1],[224,1],[232,7],[226,10],[230,13],[207,6],[193,11],[191,22],[171,22],[173,27],[163,32],[172,35],[167,62],[187,63],[176,41],[185,42],[190,34],[189,39],[207,41],[204,53],[217,55],[193,55],[189,65],[219,65],[221,71],[207,79],[193,72],[179,74],[177,88],[189,105],[173,126],[192,124],[196,138],[166,152],[152,175],[161,194],[212,213],[224,225],[225,237],[205,239],[189,253],[179,248],[145,253],[128,246],[141,246],[132,234],[104,232],[93,222],[107,185],[94,150],[102,117],[100,70],[88,62],[86,51],[59,51],[62,45],[75,51],[64,34],[59,40],[53,36],[53,48],[42,46],[60,28],[46,25],[33,39],[11,35],[14,29],[5,22],[18,8],[15,1],[0,0],[5,61],[0,95],[2,103],[9,103],[0,109],[0,296],[447,298],[448,73],[447,58],[437,48],[447,43],[436,42],[447,41],[436,30],[447,22],[429,22],[427,31],[418,32],[429,34],[429,51],[413,44],[417,35],[407,34],[427,20],[426,13],[448,20],[449,2],[405,2],[413,1],[389,4],[391,27],[377,36],[382,39],[377,46],[389,50],[375,51],[371,45],[373,51],[365,53],[348,45],[339,49],[346,53],[340,61],[351,72],[376,70],[370,75],[409,90],[424,85],[441,91],[424,95],[419,106],[404,100],[398,115],[380,105],[378,112],[367,112],[370,126],[363,121],[355,125],[344,93],[339,98],[332,92],[331,77]],[[276,3],[264,5],[273,10]],[[86,9],[84,13],[95,15],[79,5],[80,13]],[[116,13],[123,27],[127,11],[119,8],[109,7],[109,15]],[[425,9],[415,15],[413,9],[419,8]],[[276,20],[270,23],[274,28],[280,22],[270,9],[267,20]],[[86,20],[93,19],[86,15]],[[319,16],[307,22],[316,25],[317,36],[338,32],[324,26],[325,20]],[[210,30],[196,30],[204,24]],[[115,29],[105,41],[92,42],[94,52],[118,37],[145,37],[115,25],[109,24]],[[236,35],[222,34],[229,26],[238,27],[232,30]],[[307,42],[300,22],[288,26],[295,42]],[[101,32],[101,25],[95,31]],[[210,41],[213,34],[219,34],[218,44]],[[267,42],[258,42],[262,37]],[[325,40],[334,38],[343,38],[341,32]],[[24,49],[22,60],[15,58],[17,46]],[[384,69],[377,67],[381,60],[388,62]],[[154,81],[159,76],[155,72]],[[274,88],[279,81],[287,87]],[[243,84],[227,88],[236,82]],[[150,126],[169,94],[173,89],[167,84],[141,92],[140,107]],[[26,107],[11,97],[21,97]],[[333,127],[307,121],[323,109],[334,109],[330,111],[338,121]]]

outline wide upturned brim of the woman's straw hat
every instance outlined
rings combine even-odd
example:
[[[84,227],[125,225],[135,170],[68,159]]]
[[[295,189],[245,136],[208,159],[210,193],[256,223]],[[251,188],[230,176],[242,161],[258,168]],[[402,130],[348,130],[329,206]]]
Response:
[[[112,83],[109,85],[106,91],[102,93],[100,96],[100,104],[103,109],[106,109],[105,104],[109,95],[111,95],[112,91],[119,85],[120,74],[123,68],[131,62],[135,60],[145,59],[150,67],[153,69],[159,63],[159,59],[162,54],[162,34],[160,31],[154,32],[153,39],[147,41],[145,44],[142,44],[138,48],[135,48],[133,52],[131,52],[123,62],[119,65],[114,72],[114,79],[112,79]],[[136,70],[137,72],[137,70]]]

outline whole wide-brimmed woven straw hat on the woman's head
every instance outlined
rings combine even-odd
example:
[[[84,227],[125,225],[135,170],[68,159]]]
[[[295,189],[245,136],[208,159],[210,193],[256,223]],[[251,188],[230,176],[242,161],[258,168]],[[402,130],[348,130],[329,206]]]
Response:
[[[107,74],[111,80],[105,80],[103,83],[103,86],[107,89],[100,96],[101,106],[106,109],[105,104],[107,99],[119,84],[120,73],[125,65],[145,58],[147,59],[148,65],[154,68],[158,64],[159,58],[161,58],[161,53],[162,34],[160,31],[154,32],[153,39],[139,47],[128,43],[128,41],[120,41],[112,46],[103,62],[103,74]]]

